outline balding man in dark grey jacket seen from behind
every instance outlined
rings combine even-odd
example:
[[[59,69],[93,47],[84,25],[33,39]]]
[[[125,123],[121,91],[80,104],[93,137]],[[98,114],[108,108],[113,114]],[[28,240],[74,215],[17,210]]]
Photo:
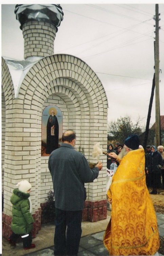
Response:
[[[73,131],[64,132],[61,146],[49,157],[56,214],[54,255],[77,255],[81,238],[81,211],[86,199],[84,183],[96,179],[102,169],[101,162],[90,169],[85,156],[73,149],[75,142]]]

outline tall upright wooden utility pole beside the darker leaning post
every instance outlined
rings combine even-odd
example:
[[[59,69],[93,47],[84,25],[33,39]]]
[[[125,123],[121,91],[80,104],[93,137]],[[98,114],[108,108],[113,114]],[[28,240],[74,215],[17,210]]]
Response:
[[[156,4],[155,88],[156,88],[156,147],[160,145],[160,97],[159,97],[159,11]]]

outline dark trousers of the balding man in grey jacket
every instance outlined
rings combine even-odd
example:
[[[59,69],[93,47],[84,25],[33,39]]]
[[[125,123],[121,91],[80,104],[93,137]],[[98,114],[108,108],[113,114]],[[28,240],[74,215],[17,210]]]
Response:
[[[54,255],[77,255],[82,232],[81,211],[56,208],[55,214]]]

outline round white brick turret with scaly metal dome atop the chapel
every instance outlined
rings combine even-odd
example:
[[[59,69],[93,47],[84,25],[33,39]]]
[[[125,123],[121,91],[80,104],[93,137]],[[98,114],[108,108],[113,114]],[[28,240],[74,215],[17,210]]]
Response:
[[[17,4],[15,14],[23,31],[24,59],[54,54],[57,27],[63,19],[60,4]]]

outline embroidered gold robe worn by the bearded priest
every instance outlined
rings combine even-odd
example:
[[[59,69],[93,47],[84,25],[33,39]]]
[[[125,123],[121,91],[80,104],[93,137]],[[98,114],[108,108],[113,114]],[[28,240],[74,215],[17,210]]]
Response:
[[[120,162],[107,191],[111,219],[104,234],[109,255],[153,255],[159,249],[154,207],[145,181],[143,149],[130,151]]]

